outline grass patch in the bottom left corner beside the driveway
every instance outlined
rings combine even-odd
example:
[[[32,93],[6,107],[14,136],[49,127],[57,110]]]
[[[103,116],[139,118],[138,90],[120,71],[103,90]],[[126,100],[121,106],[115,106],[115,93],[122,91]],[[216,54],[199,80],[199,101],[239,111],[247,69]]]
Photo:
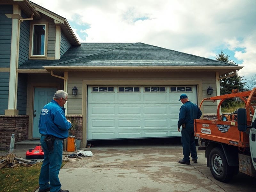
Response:
[[[39,188],[38,178],[42,162],[29,167],[16,164],[14,167],[0,169],[0,191],[34,192]]]

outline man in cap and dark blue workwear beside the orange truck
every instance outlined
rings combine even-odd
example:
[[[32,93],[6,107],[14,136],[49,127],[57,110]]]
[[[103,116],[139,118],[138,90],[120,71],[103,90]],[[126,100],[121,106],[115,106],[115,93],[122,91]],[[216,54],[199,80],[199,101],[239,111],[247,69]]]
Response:
[[[180,132],[180,126],[182,126],[181,144],[184,156],[182,160],[179,160],[179,163],[190,165],[189,153],[191,153],[192,161],[197,163],[194,119],[199,119],[202,112],[196,104],[188,100],[188,96],[186,94],[181,94],[179,101],[183,103],[180,107],[178,131]]]

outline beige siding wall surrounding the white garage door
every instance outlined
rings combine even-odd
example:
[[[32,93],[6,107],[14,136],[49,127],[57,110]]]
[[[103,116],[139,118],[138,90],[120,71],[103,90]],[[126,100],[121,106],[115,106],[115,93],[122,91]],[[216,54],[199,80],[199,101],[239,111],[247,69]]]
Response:
[[[215,72],[69,72],[67,111],[69,115],[81,115],[82,106],[86,106],[86,96],[83,93],[87,94],[87,89],[83,87],[83,81],[90,82],[90,85],[104,85],[102,82],[118,85],[120,82],[129,81],[137,82],[138,84],[141,82],[141,85],[146,85],[145,83],[152,85],[156,82],[159,85],[166,85],[166,82],[168,82],[168,85],[197,85],[198,105],[203,98],[209,97],[206,89],[210,85],[213,88],[213,95],[211,96],[216,96]],[[97,82],[101,82],[101,84],[97,84]],[[76,96],[72,95],[74,85],[78,89]],[[82,95],[84,98],[82,98]],[[204,102],[201,109],[204,114],[216,114],[217,103]]]

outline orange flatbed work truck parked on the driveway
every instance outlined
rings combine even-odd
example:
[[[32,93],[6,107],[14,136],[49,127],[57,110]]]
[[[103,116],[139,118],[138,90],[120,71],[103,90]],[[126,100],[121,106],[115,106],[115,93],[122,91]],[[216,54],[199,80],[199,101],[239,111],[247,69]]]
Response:
[[[223,118],[221,104],[232,98],[240,98],[245,107],[229,115],[234,118]],[[199,108],[205,101],[217,100],[217,118],[194,119],[195,136],[201,146],[198,150],[205,150],[207,166],[216,180],[228,182],[238,171],[256,177],[256,127],[252,123],[256,116],[256,88],[203,99]]]

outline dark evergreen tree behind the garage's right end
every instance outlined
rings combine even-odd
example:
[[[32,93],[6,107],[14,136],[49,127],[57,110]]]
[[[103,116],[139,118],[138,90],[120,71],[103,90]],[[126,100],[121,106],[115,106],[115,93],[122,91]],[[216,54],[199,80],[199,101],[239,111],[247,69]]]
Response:
[[[216,55],[215,57],[216,60],[226,62],[226,63],[231,63],[231,64],[236,64],[234,61],[229,59],[229,56],[226,55],[223,51],[219,53],[219,55]],[[225,74],[223,76],[231,75],[232,73]],[[245,91],[244,85],[246,84],[243,82],[243,76],[229,76],[227,78],[223,78],[220,80],[220,95],[228,94],[231,93],[232,89],[239,89],[239,91]],[[222,107],[230,106],[229,104],[230,100],[225,100],[222,103]]]

